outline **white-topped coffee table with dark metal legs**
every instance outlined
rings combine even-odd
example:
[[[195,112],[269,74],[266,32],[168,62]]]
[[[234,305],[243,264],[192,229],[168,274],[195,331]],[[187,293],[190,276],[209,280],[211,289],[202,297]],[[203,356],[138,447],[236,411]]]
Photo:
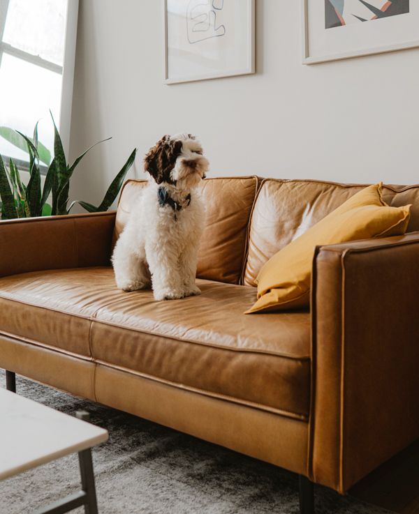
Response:
[[[108,431],[0,388],[0,480],[78,452],[82,490],[37,514],[61,514],[84,506],[96,514],[96,489],[90,448],[108,439]]]

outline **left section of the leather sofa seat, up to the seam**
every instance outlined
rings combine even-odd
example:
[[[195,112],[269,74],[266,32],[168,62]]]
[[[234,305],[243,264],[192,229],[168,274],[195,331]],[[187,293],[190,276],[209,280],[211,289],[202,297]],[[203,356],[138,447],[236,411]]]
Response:
[[[57,269],[0,278],[0,333],[91,358],[90,319],[122,296],[110,271]]]

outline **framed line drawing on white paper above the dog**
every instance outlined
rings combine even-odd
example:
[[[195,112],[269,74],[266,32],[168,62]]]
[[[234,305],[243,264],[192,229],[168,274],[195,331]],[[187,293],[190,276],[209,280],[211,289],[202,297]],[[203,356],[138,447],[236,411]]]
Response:
[[[163,0],[165,82],[255,73],[255,0]]]

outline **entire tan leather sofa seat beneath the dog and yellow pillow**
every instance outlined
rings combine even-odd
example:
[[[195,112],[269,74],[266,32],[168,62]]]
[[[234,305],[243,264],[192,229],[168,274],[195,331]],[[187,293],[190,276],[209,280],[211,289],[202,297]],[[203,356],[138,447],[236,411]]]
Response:
[[[1,278],[0,331],[172,386],[307,419],[309,313],[245,316],[255,289],[197,283],[200,296],[156,302],[151,291],[116,289],[105,267]]]

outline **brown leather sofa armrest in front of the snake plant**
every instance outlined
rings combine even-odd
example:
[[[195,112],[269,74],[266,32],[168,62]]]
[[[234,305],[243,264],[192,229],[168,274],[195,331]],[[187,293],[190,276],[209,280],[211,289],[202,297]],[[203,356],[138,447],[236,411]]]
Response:
[[[115,212],[0,221],[0,277],[108,266]]]

